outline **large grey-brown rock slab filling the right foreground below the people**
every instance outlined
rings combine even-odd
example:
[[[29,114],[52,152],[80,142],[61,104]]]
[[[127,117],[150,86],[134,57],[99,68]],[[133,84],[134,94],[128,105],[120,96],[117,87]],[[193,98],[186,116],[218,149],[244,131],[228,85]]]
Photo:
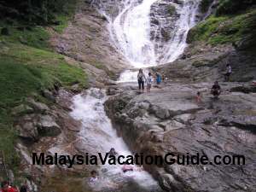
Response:
[[[245,156],[246,165],[164,165],[146,167],[167,191],[228,191],[255,189],[255,93],[230,92],[212,100],[212,84],[166,83],[151,93],[126,90],[111,96],[106,110],[134,151],[150,155],[174,153]],[[201,91],[202,102],[195,102]]]

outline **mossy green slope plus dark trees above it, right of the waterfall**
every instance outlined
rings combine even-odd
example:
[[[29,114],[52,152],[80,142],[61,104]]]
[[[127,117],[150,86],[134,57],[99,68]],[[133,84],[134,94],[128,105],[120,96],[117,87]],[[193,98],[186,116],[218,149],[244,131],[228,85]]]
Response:
[[[218,4],[216,14],[202,21],[189,31],[188,42],[207,42],[207,44],[239,44],[250,39],[247,48],[256,44],[256,9],[250,1],[223,0]]]

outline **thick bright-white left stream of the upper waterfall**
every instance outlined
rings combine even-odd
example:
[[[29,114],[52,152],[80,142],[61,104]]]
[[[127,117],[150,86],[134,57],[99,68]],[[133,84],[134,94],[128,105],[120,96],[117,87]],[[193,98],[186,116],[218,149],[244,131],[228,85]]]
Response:
[[[113,20],[113,37],[119,49],[134,67],[156,63],[154,44],[150,41],[150,8],[158,0],[126,1],[125,9]]]

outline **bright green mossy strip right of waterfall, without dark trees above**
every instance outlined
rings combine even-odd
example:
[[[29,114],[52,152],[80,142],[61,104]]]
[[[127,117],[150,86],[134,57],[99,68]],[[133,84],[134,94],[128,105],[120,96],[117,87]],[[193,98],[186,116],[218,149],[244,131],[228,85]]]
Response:
[[[248,35],[255,38],[256,10],[236,16],[212,16],[192,28],[188,42],[204,41],[208,44],[226,44],[241,41]]]

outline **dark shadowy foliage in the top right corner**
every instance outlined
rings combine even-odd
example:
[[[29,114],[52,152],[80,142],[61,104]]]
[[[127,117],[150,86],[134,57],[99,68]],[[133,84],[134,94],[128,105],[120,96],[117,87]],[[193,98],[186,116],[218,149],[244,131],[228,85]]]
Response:
[[[220,0],[216,15],[233,15],[255,4],[254,0]]]

